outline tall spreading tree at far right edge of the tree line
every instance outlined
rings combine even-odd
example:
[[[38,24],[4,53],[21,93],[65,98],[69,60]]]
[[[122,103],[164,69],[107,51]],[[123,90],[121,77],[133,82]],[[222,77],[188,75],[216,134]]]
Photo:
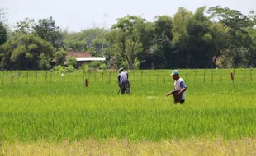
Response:
[[[228,7],[210,7],[208,10],[212,17],[217,17],[225,30],[225,44],[222,44],[216,58],[221,54],[223,60],[230,57],[230,64],[233,67],[249,66],[249,62],[254,56],[252,45],[254,40],[249,34],[249,30],[254,29],[256,24],[254,11],[250,11],[249,16],[245,16],[239,11],[231,10]],[[222,53],[221,53],[222,52]],[[255,60],[254,60],[255,61]]]

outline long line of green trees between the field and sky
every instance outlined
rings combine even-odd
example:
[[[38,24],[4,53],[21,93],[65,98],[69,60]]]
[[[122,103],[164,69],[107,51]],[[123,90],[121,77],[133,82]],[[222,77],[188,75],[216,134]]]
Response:
[[[108,68],[255,67],[256,14],[227,7],[179,7],[174,16],[124,16],[110,29],[62,30],[52,17],[9,30],[0,9],[0,64],[13,69],[64,65],[69,50],[106,57]]]

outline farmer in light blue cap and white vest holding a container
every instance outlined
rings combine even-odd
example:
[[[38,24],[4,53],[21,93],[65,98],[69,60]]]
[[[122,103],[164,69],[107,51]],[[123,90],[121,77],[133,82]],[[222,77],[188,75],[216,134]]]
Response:
[[[171,76],[173,76],[173,80],[175,80],[174,88],[172,92],[165,94],[165,96],[169,96],[170,94],[173,94],[173,97],[174,97],[173,103],[183,104],[185,102],[185,91],[187,90],[187,86],[185,85],[183,78],[179,77],[178,70],[172,71]]]

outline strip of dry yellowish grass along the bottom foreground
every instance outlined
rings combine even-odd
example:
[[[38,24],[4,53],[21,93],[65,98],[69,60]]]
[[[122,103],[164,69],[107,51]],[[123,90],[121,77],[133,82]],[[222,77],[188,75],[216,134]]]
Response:
[[[40,140],[3,145],[3,155],[255,155],[256,140],[80,140],[60,143]]]

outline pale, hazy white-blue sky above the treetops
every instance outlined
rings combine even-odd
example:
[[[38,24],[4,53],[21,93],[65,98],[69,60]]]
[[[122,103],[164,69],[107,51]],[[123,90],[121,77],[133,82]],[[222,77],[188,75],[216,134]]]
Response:
[[[62,29],[80,31],[93,26],[106,29],[123,16],[142,16],[154,21],[155,16],[172,16],[178,7],[196,11],[198,7],[229,7],[248,14],[256,11],[256,0],[0,0],[0,8],[7,10],[8,24],[13,27],[26,17],[35,19],[50,16]]]

